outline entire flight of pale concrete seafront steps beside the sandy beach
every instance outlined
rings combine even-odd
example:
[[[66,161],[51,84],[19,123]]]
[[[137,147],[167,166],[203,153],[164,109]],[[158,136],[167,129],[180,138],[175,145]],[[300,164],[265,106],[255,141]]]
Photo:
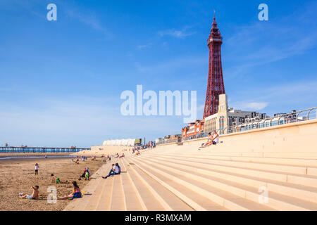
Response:
[[[166,144],[103,165],[64,210],[317,210],[317,120]],[[111,164],[123,173],[108,179]]]

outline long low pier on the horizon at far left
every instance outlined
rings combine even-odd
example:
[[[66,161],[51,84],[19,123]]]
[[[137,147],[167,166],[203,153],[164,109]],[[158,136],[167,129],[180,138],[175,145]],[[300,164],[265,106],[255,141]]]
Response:
[[[77,153],[90,148],[0,147],[0,153]]]

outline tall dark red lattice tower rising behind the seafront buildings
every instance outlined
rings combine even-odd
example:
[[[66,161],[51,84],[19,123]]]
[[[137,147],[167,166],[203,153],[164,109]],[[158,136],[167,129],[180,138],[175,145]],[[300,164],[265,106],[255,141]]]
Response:
[[[209,70],[204,118],[218,113],[219,95],[225,94],[223,68],[221,65],[221,44],[223,44],[223,37],[221,37],[217,27],[216,18],[213,17],[213,25],[209,39],[207,40],[209,47]]]

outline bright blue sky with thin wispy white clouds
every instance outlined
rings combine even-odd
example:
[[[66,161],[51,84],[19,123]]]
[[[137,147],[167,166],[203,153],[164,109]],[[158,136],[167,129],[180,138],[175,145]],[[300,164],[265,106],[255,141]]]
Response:
[[[57,21],[46,20],[50,3]],[[316,1],[1,0],[0,145],[179,134],[180,116],[120,115],[120,94],[197,91],[201,119],[213,9],[230,106],[273,115],[317,105]]]

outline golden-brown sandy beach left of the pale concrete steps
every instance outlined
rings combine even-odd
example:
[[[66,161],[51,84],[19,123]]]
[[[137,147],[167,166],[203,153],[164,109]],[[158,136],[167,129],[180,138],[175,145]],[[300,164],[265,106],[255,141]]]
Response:
[[[92,161],[88,159],[77,165],[68,159],[18,159],[0,160],[0,210],[23,210],[23,211],[59,211],[63,210],[70,200],[58,200],[56,204],[46,201],[46,189],[55,186],[57,196],[62,197],[73,191],[72,181],[77,181],[83,188],[89,181],[78,180],[85,167],[89,167],[92,174],[103,164],[101,159]],[[35,176],[35,163],[39,164],[39,175]],[[51,182],[51,174],[61,179],[61,184]],[[31,186],[39,186],[39,198],[44,200],[28,200],[18,198],[18,193],[32,193]]]

